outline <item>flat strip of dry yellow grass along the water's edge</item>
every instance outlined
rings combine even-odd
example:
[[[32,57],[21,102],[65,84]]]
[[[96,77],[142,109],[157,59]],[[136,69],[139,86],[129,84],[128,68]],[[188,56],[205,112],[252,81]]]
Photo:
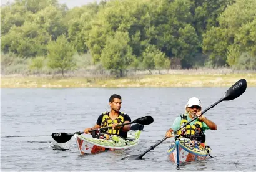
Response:
[[[256,74],[163,74],[103,77],[1,77],[1,88],[230,87],[239,79],[256,87]]]

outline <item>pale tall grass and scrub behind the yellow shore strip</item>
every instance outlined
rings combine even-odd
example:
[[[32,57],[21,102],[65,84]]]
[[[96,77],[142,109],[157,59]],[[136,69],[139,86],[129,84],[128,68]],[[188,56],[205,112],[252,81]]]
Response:
[[[102,64],[93,65],[90,54],[74,55],[76,68],[65,72],[66,77],[112,77],[109,71],[104,70]],[[196,67],[195,69],[169,69],[169,70],[146,70],[127,69],[126,77],[136,77],[139,75],[157,74],[239,74],[255,73],[255,70],[234,70],[232,68],[209,68]],[[59,77],[60,72],[47,67],[47,57],[24,58],[16,55],[1,53],[1,77]]]

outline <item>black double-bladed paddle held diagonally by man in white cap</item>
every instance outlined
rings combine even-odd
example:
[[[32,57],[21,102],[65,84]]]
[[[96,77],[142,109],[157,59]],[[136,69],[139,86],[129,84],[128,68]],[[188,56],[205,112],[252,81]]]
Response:
[[[239,81],[237,81],[234,85],[232,85],[232,87],[229,88],[229,90],[227,90],[227,92],[225,92],[224,96],[222,98],[220,98],[220,100],[218,100],[216,103],[214,103],[213,105],[210,105],[210,107],[206,108],[205,110],[203,110],[203,112],[201,114],[204,114],[205,112],[207,112],[207,110],[209,110],[210,108],[215,107],[215,105],[219,104],[222,101],[229,101],[229,100],[234,100],[235,98],[239,97],[240,95],[242,95],[245,90],[247,88],[247,82],[245,79],[240,79]],[[184,125],[182,125],[178,130],[174,131],[177,132],[179,130],[181,130],[182,128],[184,128],[186,125],[188,125],[190,122],[193,122],[194,120],[196,120],[198,118],[198,116],[194,117],[192,120],[190,120],[187,123],[184,123]],[[139,160],[142,159],[142,157],[148,153],[150,150],[153,150],[156,146],[160,145],[160,143],[162,143],[163,141],[165,141],[168,137],[164,137],[162,140],[160,140],[158,143],[156,143],[153,146],[150,146],[149,149],[147,149],[146,151],[144,151],[144,153],[140,154],[140,155],[130,155],[130,156],[126,156],[124,158],[122,158],[122,160],[124,159],[130,159],[130,160]]]

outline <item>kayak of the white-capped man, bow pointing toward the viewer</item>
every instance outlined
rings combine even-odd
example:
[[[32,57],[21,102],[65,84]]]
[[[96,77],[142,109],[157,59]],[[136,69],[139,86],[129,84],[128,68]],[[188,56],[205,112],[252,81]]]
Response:
[[[175,138],[167,150],[167,156],[169,161],[179,165],[189,161],[205,160],[209,157],[210,151],[210,147],[203,143],[187,138]]]

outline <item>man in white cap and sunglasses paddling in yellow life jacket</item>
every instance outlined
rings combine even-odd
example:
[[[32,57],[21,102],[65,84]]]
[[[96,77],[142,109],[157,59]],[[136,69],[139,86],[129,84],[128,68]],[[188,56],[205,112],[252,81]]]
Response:
[[[192,135],[200,135],[205,138],[205,130],[217,130],[217,125],[204,115],[201,115],[201,110],[201,101],[197,97],[189,98],[185,105],[185,113],[174,120],[172,127],[167,130],[165,136],[172,137],[172,131],[178,130],[184,123],[194,118],[195,115],[198,116],[197,120],[194,120],[182,130],[178,131],[178,135],[184,136],[185,138],[191,138]],[[205,140],[203,140],[203,142],[205,142]]]

